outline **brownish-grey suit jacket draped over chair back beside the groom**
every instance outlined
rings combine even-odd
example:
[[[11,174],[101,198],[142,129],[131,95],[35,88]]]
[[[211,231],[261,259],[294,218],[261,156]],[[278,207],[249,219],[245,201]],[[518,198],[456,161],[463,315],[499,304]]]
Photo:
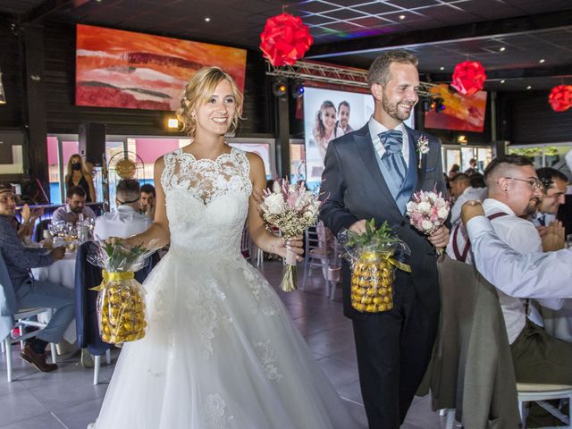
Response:
[[[442,312],[429,370],[433,409],[456,408],[467,429],[518,427],[517,382],[496,288],[474,265],[443,256],[438,268]]]

